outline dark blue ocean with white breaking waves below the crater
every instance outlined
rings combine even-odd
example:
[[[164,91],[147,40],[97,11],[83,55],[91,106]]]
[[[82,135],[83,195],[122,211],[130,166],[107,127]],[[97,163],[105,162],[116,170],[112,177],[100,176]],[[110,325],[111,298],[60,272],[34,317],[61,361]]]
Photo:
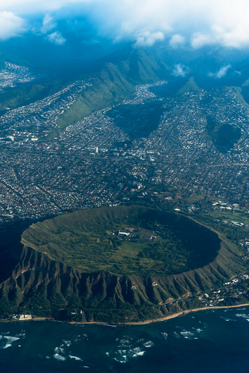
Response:
[[[0,324],[1,373],[249,371],[249,307],[137,326]]]

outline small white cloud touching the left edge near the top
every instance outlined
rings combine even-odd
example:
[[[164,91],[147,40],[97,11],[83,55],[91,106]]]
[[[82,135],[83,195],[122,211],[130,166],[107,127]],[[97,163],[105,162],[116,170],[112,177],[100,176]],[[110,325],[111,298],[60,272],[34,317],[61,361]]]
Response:
[[[20,35],[24,31],[24,23],[11,11],[0,11],[0,40]]]

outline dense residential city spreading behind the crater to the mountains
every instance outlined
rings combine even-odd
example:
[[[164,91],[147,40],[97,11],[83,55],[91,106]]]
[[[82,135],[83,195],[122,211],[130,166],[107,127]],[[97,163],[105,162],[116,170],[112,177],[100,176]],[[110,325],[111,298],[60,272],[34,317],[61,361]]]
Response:
[[[165,81],[138,86],[133,99],[95,111],[46,140],[89,84],[76,82],[0,118],[1,222],[122,204],[132,195],[157,193],[164,193],[165,200],[197,194],[247,203],[249,114],[235,90],[164,98],[156,90]],[[150,112],[155,115],[159,109],[158,123],[145,136]],[[207,131],[211,115],[240,130],[235,144],[213,141]]]

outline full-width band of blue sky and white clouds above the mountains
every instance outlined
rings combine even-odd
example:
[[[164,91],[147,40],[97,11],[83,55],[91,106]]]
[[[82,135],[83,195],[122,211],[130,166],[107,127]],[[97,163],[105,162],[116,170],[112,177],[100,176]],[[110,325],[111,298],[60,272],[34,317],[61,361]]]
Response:
[[[248,14],[248,0],[1,0],[0,40],[33,32],[60,46],[66,20],[77,37],[89,27],[113,43],[241,50],[249,46]]]

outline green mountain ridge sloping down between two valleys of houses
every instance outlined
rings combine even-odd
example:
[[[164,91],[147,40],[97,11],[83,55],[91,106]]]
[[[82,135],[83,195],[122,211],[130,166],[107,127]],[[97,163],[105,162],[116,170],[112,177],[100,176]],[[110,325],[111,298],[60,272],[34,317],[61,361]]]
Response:
[[[92,87],[82,92],[76,102],[57,120],[60,130],[76,123],[92,111],[129,98],[135,85],[166,79],[169,69],[148,53],[133,49],[129,58],[117,64],[107,63],[93,76]]]

